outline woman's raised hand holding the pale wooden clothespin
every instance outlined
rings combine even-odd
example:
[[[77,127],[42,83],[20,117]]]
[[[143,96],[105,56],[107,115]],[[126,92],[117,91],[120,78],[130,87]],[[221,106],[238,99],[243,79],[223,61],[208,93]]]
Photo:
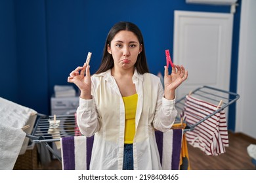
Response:
[[[68,82],[74,83],[79,88],[81,98],[92,99],[90,65],[77,67],[68,76]]]

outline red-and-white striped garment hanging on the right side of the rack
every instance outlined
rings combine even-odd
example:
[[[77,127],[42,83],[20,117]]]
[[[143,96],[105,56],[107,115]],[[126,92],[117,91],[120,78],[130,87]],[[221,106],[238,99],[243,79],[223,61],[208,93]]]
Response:
[[[184,119],[187,124],[194,125],[217,110],[217,106],[207,103],[192,95],[186,95]],[[186,140],[207,155],[223,154],[228,146],[228,131],[224,110],[196,125],[194,130],[186,132]]]

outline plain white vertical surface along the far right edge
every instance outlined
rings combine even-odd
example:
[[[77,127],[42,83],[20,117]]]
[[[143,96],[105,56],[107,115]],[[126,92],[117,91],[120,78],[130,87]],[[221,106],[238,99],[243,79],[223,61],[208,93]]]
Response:
[[[236,105],[236,132],[256,139],[255,68],[256,68],[256,1],[243,0],[240,21],[240,45],[238,59],[238,93]]]

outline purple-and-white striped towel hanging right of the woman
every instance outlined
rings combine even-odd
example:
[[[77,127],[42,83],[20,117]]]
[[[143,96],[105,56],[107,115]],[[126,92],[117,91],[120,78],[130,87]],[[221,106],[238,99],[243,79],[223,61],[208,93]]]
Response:
[[[156,143],[163,170],[179,170],[183,129],[169,129],[163,133],[155,131]]]

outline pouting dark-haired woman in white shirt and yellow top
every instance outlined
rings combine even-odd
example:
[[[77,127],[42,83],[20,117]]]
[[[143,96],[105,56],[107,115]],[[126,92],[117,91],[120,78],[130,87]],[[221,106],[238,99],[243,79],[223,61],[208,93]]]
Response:
[[[81,91],[77,125],[95,135],[90,169],[161,169],[155,129],[173,125],[175,90],[186,80],[184,67],[165,66],[164,88],[148,71],[142,33],[131,22],[110,29],[102,63],[91,76],[90,66],[77,67],[68,82]]]

